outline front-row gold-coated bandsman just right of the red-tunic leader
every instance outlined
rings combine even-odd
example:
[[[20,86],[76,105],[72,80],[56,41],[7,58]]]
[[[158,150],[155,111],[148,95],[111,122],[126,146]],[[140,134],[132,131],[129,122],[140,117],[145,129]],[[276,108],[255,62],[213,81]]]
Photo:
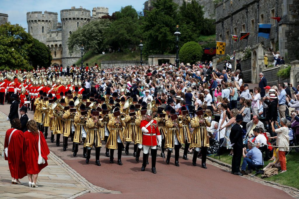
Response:
[[[170,115],[176,114],[175,109],[171,109]],[[179,166],[179,154],[181,148],[181,135],[179,129],[182,128],[182,124],[177,121],[172,121],[171,118],[165,121],[167,130],[165,138],[165,149],[168,148],[166,163],[169,164],[171,151],[175,150],[175,165]]]

